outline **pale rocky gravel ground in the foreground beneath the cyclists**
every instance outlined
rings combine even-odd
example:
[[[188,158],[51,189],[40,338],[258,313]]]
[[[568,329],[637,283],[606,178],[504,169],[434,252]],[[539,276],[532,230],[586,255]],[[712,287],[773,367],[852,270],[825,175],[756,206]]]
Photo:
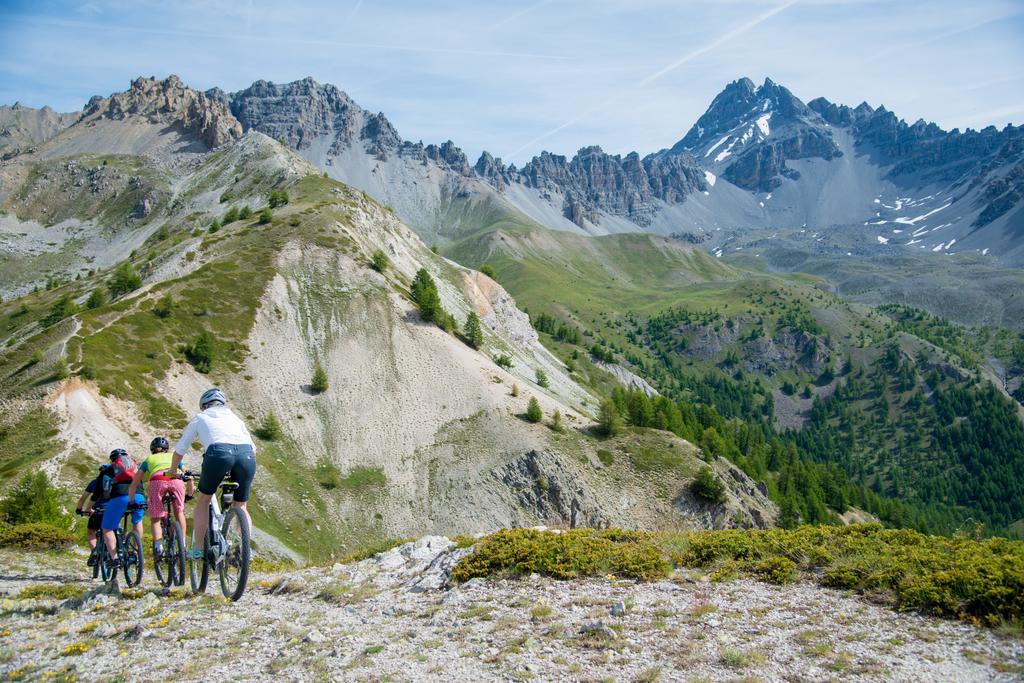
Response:
[[[95,588],[84,557],[0,554],[0,675],[79,681],[1021,680],[1024,641],[812,584],[540,577],[445,590],[468,552],[430,537],[332,567],[257,573],[238,603]],[[30,591],[39,591],[30,588]]]

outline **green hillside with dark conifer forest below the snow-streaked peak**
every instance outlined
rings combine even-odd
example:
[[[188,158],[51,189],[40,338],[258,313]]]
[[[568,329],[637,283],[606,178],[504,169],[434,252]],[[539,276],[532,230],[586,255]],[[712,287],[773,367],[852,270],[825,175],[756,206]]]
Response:
[[[664,250],[598,240],[618,239],[628,248],[606,246],[602,263],[584,249],[536,253],[536,238],[460,249],[487,255],[542,339],[622,420],[729,459],[764,482],[783,525],[855,508],[927,531],[1020,533],[1024,423],[1008,395],[1021,391],[1019,333],[851,304],[803,275],[677,265],[657,287],[642,264]],[[621,276],[578,282],[601,268]],[[657,395],[617,387],[608,364]]]

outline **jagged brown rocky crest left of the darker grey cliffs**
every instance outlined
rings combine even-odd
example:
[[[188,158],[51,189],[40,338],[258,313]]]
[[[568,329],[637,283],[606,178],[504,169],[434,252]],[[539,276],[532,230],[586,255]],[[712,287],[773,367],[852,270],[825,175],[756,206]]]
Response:
[[[213,148],[242,137],[242,124],[215,98],[189,88],[177,76],[137,78],[131,87],[103,98],[94,96],[85,117],[114,120],[142,118],[151,123],[179,123]]]

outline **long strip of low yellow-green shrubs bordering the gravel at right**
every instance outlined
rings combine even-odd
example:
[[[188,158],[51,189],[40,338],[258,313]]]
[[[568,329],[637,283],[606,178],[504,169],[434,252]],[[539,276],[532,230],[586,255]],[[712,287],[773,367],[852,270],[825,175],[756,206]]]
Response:
[[[505,529],[456,565],[456,581],[538,572],[649,581],[670,566],[715,581],[797,579],[871,593],[898,609],[997,627],[1024,618],[1024,542],[926,536],[881,524],[686,532]]]

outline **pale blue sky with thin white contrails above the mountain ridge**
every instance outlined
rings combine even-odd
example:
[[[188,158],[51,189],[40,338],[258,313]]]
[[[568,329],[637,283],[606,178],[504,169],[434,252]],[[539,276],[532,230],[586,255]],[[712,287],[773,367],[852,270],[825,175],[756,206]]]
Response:
[[[521,163],[670,146],[740,76],[944,128],[1020,124],[1022,37],[1021,0],[0,0],[0,102],[312,76],[403,137]]]

